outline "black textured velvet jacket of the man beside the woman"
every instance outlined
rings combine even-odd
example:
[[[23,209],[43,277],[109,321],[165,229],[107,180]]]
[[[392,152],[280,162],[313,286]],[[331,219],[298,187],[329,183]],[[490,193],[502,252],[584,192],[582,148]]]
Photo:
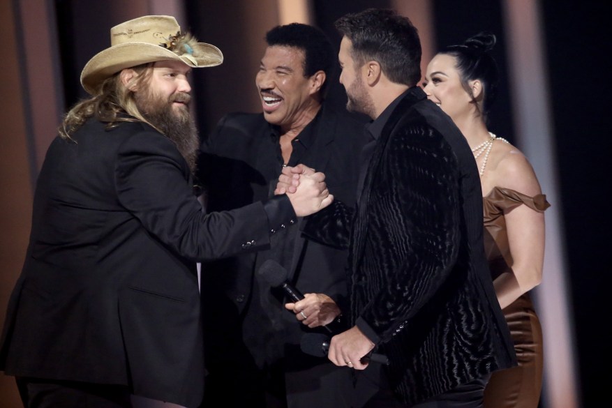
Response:
[[[334,202],[304,232],[349,246],[352,324],[389,357],[403,402],[514,364],[484,255],[474,157],[421,89],[387,121],[356,211]]]

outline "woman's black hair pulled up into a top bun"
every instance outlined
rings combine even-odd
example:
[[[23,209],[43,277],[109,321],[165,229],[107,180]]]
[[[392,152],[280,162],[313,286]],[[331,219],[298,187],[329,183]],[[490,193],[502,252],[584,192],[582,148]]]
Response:
[[[461,84],[474,100],[469,82],[479,80],[482,83],[482,109],[477,103],[477,109],[486,120],[498,89],[498,64],[489,53],[495,45],[495,35],[486,31],[468,38],[462,45],[449,45],[440,54],[454,56]]]

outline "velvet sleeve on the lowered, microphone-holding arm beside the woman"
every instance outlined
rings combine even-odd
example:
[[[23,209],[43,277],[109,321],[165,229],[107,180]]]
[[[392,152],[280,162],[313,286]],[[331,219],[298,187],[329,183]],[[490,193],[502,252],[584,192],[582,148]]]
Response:
[[[382,282],[368,283],[377,288],[357,317],[375,342],[440,305],[461,243],[459,172],[442,135],[424,124],[399,126],[380,163],[363,262]]]

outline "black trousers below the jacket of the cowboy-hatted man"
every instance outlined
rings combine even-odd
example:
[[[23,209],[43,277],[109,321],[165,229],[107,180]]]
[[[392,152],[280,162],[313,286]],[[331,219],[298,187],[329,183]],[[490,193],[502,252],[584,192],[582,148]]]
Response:
[[[17,377],[25,408],[131,408],[128,387]]]

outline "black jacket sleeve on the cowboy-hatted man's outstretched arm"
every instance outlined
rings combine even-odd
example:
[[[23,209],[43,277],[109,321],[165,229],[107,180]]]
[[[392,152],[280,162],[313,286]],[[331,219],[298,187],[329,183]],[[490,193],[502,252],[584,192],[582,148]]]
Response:
[[[119,149],[119,201],[147,231],[184,257],[206,261],[267,248],[272,229],[294,222],[286,196],[206,213],[193,195],[189,174],[176,146],[153,131],[129,137]]]

